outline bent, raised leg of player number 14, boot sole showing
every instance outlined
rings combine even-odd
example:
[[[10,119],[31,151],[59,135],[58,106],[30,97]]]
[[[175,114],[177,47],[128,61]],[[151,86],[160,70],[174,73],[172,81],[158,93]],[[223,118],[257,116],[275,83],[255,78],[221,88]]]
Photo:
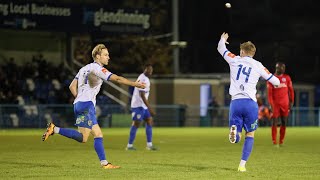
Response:
[[[242,116],[241,116],[241,102],[240,100],[233,100],[230,104],[229,111],[229,141],[230,143],[238,143],[241,140],[242,132]]]

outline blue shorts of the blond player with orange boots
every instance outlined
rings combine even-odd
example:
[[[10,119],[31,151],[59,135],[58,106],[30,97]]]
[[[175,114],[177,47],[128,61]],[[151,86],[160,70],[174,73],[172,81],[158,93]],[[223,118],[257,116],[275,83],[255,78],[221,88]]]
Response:
[[[98,124],[96,110],[91,101],[77,102],[74,104],[74,115],[76,117],[75,125],[92,129],[92,126]]]

